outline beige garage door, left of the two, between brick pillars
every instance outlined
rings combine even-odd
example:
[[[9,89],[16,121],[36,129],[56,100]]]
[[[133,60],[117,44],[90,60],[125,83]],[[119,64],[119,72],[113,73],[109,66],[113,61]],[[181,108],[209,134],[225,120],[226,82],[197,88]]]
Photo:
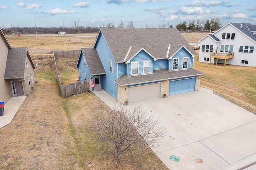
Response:
[[[161,97],[161,83],[128,87],[129,103],[158,97]]]

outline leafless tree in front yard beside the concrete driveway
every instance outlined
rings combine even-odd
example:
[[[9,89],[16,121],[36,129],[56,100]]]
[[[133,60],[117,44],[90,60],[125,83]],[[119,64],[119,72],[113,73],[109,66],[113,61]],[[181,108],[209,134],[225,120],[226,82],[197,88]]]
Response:
[[[138,104],[132,109],[120,105],[114,110],[102,111],[92,119],[92,130],[96,136],[114,146],[114,163],[118,163],[124,152],[132,153],[132,145],[159,146],[159,139],[164,136],[164,128],[159,127],[155,115],[142,111]]]

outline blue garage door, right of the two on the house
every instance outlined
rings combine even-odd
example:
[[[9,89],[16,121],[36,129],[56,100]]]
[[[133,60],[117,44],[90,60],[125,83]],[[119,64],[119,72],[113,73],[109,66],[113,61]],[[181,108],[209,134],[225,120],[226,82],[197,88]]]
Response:
[[[196,78],[170,81],[169,95],[195,91]]]

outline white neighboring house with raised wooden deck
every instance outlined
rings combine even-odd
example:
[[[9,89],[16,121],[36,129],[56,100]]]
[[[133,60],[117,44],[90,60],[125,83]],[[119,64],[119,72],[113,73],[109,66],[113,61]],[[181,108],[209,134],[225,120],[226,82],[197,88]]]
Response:
[[[226,55],[227,64],[256,67],[256,25],[228,23],[199,42],[200,62],[214,64],[216,56],[222,55],[217,62],[224,63]]]

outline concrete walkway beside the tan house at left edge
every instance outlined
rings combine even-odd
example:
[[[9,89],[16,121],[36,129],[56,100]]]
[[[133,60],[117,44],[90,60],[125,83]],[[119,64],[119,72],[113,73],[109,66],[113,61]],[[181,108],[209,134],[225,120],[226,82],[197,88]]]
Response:
[[[12,122],[12,119],[25,98],[26,96],[11,97],[8,102],[4,104],[4,115],[0,116],[0,128]]]

